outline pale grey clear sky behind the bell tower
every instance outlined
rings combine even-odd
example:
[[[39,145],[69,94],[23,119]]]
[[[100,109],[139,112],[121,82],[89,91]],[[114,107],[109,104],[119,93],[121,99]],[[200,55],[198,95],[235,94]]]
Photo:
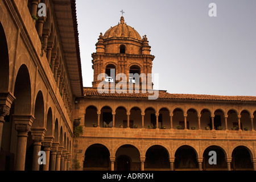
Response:
[[[152,73],[169,93],[256,96],[255,0],[77,0],[82,77],[92,86],[100,32],[118,24],[147,35]],[[210,3],[217,17],[210,17]]]

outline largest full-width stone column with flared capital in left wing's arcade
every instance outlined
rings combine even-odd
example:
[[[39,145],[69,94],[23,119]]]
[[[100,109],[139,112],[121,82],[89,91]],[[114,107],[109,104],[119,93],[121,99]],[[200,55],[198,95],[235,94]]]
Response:
[[[27,151],[28,131],[31,130],[35,118],[32,115],[13,115],[15,130],[18,131],[15,171],[24,171]]]

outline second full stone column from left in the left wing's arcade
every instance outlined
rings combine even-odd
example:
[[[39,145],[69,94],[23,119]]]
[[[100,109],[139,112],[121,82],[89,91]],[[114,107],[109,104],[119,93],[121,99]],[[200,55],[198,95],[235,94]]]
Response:
[[[31,135],[33,143],[33,159],[32,159],[32,171],[39,171],[40,164],[38,163],[39,155],[41,151],[42,142],[44,140],[44,133],[46,129],[31,129]]]

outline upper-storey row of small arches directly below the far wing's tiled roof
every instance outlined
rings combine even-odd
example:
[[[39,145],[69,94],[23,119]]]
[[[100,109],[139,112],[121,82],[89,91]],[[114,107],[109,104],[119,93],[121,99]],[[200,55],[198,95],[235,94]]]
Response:
[[[250,130],[255,128],[256,111],[243,109],[197,109],[196,107],[184,109],[176,107],[170,109],[168,106],[156,109],[148,106],[131,106],[127,109],[125,106],[87,106],[85,109],[84,126],[93,127],[119,127],[125,128],[148,128],[154,129],[177,129],[181,126],[183,130],[191,130],[192,126],[196,130]]]

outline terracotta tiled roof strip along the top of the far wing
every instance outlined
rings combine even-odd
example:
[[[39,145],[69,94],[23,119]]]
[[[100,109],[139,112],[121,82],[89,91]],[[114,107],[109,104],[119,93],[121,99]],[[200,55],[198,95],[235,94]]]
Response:
[[[99,93],[97,88],[84,88],[85,97],[113,97],[113,98],[148,98],[149,93]],[[200,94],[171,94],[159,90],[158,100],[212,100],[212,101],[250,101],[256,102],[254,96],[213,96]]]

